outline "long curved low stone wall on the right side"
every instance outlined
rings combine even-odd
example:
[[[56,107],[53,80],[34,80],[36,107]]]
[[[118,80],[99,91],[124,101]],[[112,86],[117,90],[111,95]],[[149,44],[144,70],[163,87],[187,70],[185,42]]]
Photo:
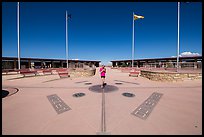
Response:
[[[146,77],[153,81],[183,81],[202,79],[202,72],[199,73],[176,73],[176,72],[154,72],[141,70],[142,77]]]

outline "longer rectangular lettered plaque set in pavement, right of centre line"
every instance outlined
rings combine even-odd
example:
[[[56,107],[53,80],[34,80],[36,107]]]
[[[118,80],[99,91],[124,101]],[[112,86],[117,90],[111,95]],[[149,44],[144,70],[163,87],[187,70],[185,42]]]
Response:
[[[147,117],[152,112],[153,108],[159,102],[162,97],[162,93],[154,92],[151,96],[149,96],[139,107],[137,107],[131,114],[141,118],[147,119]]]

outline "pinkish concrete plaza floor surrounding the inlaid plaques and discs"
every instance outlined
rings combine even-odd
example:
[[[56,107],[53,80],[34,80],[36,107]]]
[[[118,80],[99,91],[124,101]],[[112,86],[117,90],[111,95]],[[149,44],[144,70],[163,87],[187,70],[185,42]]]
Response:
[[[18,92],[2,98],[3,135],[97,135],[101,132],[102,94],[89,90],[99,85],[92,77],[63,78],[46,75],[11,79],[2,76],[2,90]],[[86,85],[85,83],[91,83]],[[115,83],[121,82],[117,85]],[[118,90],[105,93],[106,132],[111,135],[201,135],[202,80],[157,82],[107,68],[107,85]],[[82,92],[85,96],[73,97]],[[125,97],[124,92],[135,94]],[[153,92],[162,97],[147,119],[131,113]],[[58,114],[47,96],[56,94],[71,109]]]

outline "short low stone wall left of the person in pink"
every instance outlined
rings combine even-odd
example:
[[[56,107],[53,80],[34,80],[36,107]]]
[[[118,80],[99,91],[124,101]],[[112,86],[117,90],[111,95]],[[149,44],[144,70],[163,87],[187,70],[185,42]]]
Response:
[[[69,70],[70,77],[89,77],[94,76],[96,69],[71,69]]]

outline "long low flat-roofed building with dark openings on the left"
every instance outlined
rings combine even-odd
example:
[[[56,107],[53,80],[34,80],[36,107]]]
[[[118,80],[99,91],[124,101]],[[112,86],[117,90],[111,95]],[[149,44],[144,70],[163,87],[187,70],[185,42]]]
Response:
[[[101,61],[68,60],[69,68],[99,67]],[[66,68],[65,59],[20,58],[21,69],[24,68]],[[2,57],[2,69],[18,69],[17,57]]]

